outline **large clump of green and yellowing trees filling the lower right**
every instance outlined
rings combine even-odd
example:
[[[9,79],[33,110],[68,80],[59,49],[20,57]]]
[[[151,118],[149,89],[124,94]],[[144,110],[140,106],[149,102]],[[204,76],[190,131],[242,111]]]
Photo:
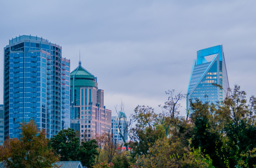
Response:
[[[190,100],[191,114],[179,118],[185,96],[173,92],[166,92],[170,97],[159,105],[160,114],[146,106],[135,108],[126,155],[131,167],[256,167],[254,96],[248,101],[235,86],[222,102]]]

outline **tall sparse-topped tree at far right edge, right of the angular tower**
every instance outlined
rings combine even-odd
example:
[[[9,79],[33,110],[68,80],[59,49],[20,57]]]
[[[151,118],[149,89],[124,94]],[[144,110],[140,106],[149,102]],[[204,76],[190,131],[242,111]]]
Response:
[[[242,154],[256,148],[256,98],[251,96],[247,101],[246,93],[237,85],[230,94],[222,104],[217,105],[214,117],[220,131],[226,137],[230,167],[237,166],[240,161],[253,167],[256,165],[255,158]]]

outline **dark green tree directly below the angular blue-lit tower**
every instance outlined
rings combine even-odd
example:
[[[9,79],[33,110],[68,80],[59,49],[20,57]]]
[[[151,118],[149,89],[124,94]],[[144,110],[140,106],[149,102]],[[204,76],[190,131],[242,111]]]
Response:
[[[190,104],[193,111],[191,121],[194,123],[191,147],[201,148],[204,154],[214,160],[215,167],[224,167],[227,151],[222,149],[224,139],[214,118],[215,106],[208,102],[203,104],[199,100]]]

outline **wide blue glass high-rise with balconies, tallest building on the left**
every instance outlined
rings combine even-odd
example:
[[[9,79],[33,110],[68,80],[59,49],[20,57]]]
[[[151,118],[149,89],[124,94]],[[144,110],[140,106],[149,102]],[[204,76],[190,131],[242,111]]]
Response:
[[[70,60],[61,46],[19,36],[4,47],[4,137],[19,137],[21,122],[34,120],[51,138],[69,127]]]

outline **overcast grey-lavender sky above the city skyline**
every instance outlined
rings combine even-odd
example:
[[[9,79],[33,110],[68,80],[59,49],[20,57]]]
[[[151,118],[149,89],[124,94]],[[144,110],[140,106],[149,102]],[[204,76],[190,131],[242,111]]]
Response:
[[[112,116],[121,100],[127,116],[137,105],[161,112],[165,91],[187,93],[196,51],[219,44],[229,86],[256,95],[256,1],[27,0],[0,6],[0,66],[4,47],[19,35],[62,46],[71,71],[80,50],[82,66],[97,77]],[[185,115],[186,100],[181,105]]]

